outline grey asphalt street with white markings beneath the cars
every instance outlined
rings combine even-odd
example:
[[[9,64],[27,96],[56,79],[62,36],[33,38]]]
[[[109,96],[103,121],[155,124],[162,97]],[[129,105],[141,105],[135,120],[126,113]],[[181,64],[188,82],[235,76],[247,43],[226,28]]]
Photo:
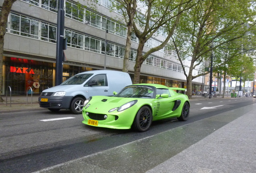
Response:
[[[8,119],[10,121],[12,119],[10,116],[15,117],[14,113],[18,107],[20,115],[15,118],[21,120],[10,129],[1,125],[1,129],[6,132],[1,135],[0,139],[2,145],[0,172],[255,173],[256,99],[195,98],[190,102],[189,121],[186,123],[174,120],[155,122],[146,133],[105,131],[93,127],[81,129],[81,127],[72,127],[80,119],[79,116],[70,115],[68,111],[62,111],[56,116],[50,111],[47,114],[47,110],[40,109],[38,106],[33,108],[23,103],[13,104],[16,109],[0,110],[2,121]],[[0,108],[2,107],[6,105],[0,105]],[[36,109],[36,112],[45,112],[46,117],[43,119],[40,115],[38,115],[40,118],[33,116],[35,113],[31,111],[33,109]],[[35,133],[31,129],[29,133],[29,128],[21,134],[21,130],[19,131],[17,127],[22,127],[22,121],[24,121],[22,117],[29,119],[24,124],[30,124],[31,127],[37,126],[37,135],[41,135],[40,140],[33,139]],[[74,118],[58,121],[55,123],[55,129],[52,123],[52,126],[47,126],[47,128],[52,127],[50,131],[43,131],[43,124],[40,127],[35,121],[35,119],[45,120],[56,117]],[[51,121],[40,122],[48,125],[51,123]],[[70,127],[59,129],[61,125]],[[68,129],[72,132],[72,128],[75,128],[74,131],[81,136],[75,133],[68,134]],[[85,133],[81,133],[82,130],[85,131],[85,128],[86,131],[89,130],[89,134],[92,133],[86,139],[83,137]],[[77,131],[78,129],[80,131]],[[47,139],[47,136],[53,132],[56,132],[56,137],[59,137],[56,138],[52,134],[52,137]],[[66,141],[60,137],[62,134],[64,137],[65,133]],[[70,140],[72,135],[77,139]],[[12,143],[12,140],[19,136],[25,137],[19,140],[20,144]],[[46,146],[47,144],[49,146]],[[14,149],[15,146],[23,153],[17,153],[18,148]],[[24,146],[23,149],[21,149],[22,146]],[[43,146],[43,150],[38,150],[37,147],[40,146]],[[4,153],[9,153],[9,155],[4,155]],[[69,157],[64,157],[64,155]],[[49,166],[45,167],[45,165]]]

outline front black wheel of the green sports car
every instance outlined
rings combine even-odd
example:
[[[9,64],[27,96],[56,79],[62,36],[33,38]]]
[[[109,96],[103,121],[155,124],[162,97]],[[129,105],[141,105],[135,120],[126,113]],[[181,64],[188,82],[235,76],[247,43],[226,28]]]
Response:
[[[143,106],[137,112],[134,121],[133,129],[140,132],[145,132],[149,129],[152,123],[152,113],[149,107]]]

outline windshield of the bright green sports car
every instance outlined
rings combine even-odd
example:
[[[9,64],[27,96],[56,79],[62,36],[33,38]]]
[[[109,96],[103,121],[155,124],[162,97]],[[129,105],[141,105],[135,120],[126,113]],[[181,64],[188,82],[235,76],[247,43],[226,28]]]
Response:
[[[153,93],[153,87],[131,85],[122,89],[122,91],[120,91],[120,93],[118,93],[114,97],[152,99]]]

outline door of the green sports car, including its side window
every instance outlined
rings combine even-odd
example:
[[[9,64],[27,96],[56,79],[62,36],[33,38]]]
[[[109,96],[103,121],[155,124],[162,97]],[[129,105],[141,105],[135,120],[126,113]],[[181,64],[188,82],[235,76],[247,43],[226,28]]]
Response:
[[[168,94],[168,98],[159,97],[157,99],[157,105],[159,107],[157,117],[158,118],[165,118],[168,117],[171,113],[171,109],[174,105],[174,98],[171,97],[170,92],[168,89],[157,89],[158,94]]]

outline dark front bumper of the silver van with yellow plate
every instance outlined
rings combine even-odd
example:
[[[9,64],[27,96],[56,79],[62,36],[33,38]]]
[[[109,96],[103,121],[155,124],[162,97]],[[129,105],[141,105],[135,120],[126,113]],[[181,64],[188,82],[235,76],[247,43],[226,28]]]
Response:
[[[38,102],[42,108],[69,109],[72,98],[72,96],[39,96]],[[45,99],[47,100],[43,101]]]

